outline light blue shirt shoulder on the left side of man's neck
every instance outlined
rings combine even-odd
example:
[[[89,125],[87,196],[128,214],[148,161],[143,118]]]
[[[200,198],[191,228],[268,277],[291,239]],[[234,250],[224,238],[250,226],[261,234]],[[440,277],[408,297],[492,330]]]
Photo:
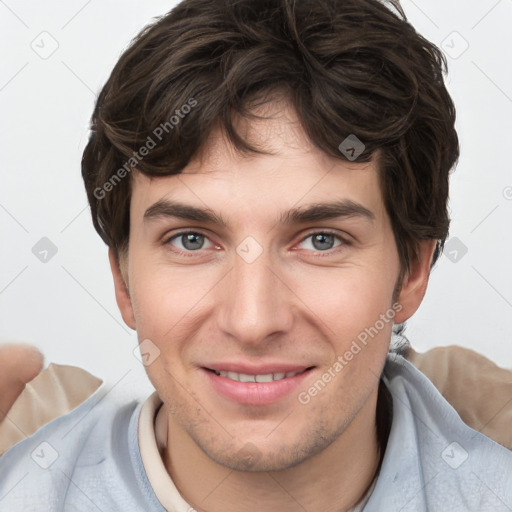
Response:
[[[69,503],[95,510],[98,499],[105,510],[118,510],[123,502],[139,510],[126,500],[129,489],[137,489],[142,403],[112,395],[101,385],[0,456],[2,510],[65,510]],[[113,500],[111,506],[105,499]]]

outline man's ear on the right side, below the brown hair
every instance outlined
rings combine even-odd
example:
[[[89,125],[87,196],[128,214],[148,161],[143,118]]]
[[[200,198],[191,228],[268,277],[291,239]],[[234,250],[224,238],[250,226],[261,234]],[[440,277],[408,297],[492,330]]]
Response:
[[[420,307],[427,290],[430,266],[436,240],[422,240],[418,247],[417,257],[411,261],[411,268],[403,279],[402,288],[397,302],[402,306],[395,315],[395,322],[402,323],[408,320]]]

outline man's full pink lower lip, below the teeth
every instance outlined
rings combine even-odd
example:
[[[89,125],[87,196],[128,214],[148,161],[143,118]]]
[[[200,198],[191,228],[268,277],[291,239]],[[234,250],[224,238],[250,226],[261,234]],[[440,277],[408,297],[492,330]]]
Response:
[[[308,377],[311,369],[272,382],[239,382],[205,368],[203,372],[215,391],[222,396],[245,405],[268,405],[289,396]]]

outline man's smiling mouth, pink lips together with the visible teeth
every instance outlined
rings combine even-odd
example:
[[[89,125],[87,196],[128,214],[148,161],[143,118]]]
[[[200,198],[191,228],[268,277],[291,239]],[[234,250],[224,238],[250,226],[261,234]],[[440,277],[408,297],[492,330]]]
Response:
[[[213,366],[213,365],[212,365]],[[269,405],[290,398],[315,366],[251,370],[202,367],[210,388],[220,397],[242,405]],[[285,371],[286,370],[286,371]]]

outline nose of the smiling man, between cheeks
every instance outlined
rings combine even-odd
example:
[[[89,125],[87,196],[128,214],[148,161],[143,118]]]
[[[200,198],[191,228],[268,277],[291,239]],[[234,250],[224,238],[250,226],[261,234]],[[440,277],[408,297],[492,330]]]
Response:
[[[289,332],[293,322],[293,293],[264,251],[248,262],[239,254],[221,288],[218,326],[247,346]]]

